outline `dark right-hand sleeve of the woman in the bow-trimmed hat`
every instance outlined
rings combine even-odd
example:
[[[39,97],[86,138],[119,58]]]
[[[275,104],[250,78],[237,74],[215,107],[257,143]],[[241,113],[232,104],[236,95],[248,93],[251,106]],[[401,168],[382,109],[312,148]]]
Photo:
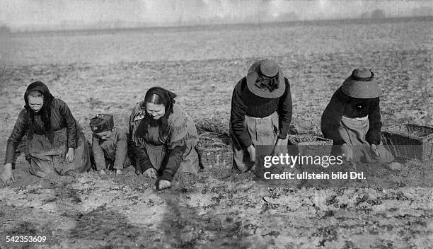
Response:
[[[286,83],[286,91],[282,95],[282,98],[279,102],[279,108],[278,108],[279,109],[278,137],[281,139],[287,138],[287,134],[289,133],[289,127],[291,122],[291,115],[292,115],[290,83],[287,78],[284,78],[284,82]]]

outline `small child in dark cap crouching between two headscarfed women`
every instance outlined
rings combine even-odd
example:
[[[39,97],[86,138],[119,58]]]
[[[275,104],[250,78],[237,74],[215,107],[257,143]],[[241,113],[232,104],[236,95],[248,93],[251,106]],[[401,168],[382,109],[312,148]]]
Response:
[[[92,150],[96,170],[105,175],[105,170],[116,170],[116,176],[122,174],[123,168],[131,165],[127,155],[127,134],[114,126],[112,115],[98,114],[90,122],[93,132]]]

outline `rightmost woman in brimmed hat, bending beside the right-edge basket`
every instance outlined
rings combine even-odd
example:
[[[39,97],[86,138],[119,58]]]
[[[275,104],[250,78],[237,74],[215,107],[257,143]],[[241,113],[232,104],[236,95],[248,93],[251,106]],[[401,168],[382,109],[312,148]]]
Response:
[[[392,154],[381,143],[381,88],[371,70],[354,69],[335,91],[321,120],[323,136],[333,139],[333,153],[347,161],[387,163]]]

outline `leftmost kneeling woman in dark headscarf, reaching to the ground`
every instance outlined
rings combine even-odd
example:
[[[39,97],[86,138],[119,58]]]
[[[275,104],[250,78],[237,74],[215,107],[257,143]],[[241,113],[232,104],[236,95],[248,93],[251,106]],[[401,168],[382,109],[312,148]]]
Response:
[[[68,105],[54,98],[47,86],[35,81],[24,94],[25,106],[18,115],[6,147],[5,170],[1,178],[13,180],[15,151],[27,134],[25,158],[30,173],[45,177],[79,173],[90,168],[88,144]]]

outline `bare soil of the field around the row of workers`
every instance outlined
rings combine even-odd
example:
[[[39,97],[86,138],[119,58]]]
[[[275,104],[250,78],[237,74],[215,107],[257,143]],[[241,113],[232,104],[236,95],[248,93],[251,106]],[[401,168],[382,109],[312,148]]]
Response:
[[[432,20],[250,25],[242,29],[135,30],[94,35],[1,37],[0,135],[5,151],[33,80],[62,98],[89,139],[90,118],[115,115],[126,129],[151,86],[178,94],[196,120],[228,132],[231,92],[256,59],[282,65],[294,129],[320,134],[330,96],[357,66],[379,77],[385,126],[433,125]],[[267,42],[263,42],[266,37]],[[4,160],[4,153],[0,160]],[[226,169],[179,175],[156,191],[133,168],[36,178],[23,156],[17,183],[0,188],[0,248],[432,248],[432,162],[381,168],[397,187],[266,186]],[[6,243],[6,236],[47,236]]]

